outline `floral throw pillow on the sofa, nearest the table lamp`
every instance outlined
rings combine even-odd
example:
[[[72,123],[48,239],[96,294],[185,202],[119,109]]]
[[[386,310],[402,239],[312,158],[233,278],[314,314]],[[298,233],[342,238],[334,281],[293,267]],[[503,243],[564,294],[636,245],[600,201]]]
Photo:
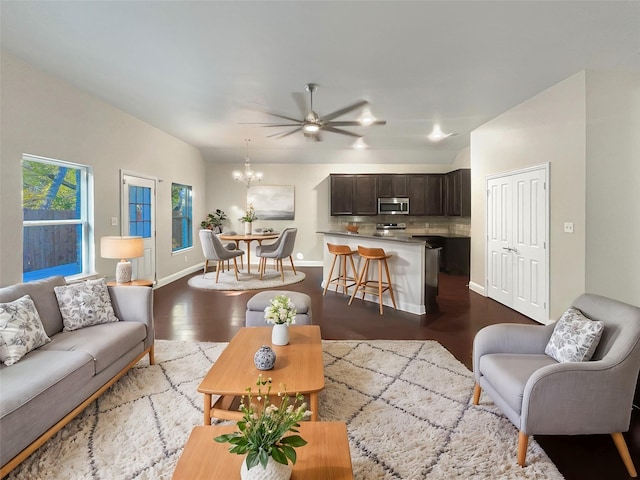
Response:
[[[118,321],[104,278],[54,287],[53,290],[65,332]]]

